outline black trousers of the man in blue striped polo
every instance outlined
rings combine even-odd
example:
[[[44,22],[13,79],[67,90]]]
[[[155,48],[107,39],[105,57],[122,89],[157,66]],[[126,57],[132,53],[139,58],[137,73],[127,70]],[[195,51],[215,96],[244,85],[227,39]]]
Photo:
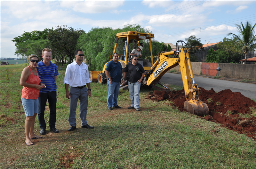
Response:
[[[52,91],[47,93],[39,93],[38,100],[39,100],[38,122],[39,122],[40,129],[46,129],[46,123],[44,121],[44,110],[45,110],[47,100],[50,108],[49,126],[50,128],[55,128],[57,92]]]

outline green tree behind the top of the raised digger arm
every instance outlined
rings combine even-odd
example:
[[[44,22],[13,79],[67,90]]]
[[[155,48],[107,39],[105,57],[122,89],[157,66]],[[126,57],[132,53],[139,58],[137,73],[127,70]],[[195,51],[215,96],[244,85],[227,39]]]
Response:
[[[196,36],[190,36],[188,38],[185,38],[187,41],[188,51],[189,51],[189,58],[192,61],[197,61],[197,56],[194,56],[193,54],[198,52],[200,49],[204,50],[203,44],[201,43],[200,38],[196,38]]]

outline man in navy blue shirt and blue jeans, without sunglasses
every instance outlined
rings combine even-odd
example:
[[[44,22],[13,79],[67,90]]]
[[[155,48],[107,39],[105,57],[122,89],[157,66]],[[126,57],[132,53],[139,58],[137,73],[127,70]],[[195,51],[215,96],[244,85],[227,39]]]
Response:
[[[114,53],[113,59],[110,60],[105,67],[105,73],[108,77],[108,110],[112,110],[112,106],[114,108],[121,109],[121,107],[117,105],[117,98],[119,94],[123,69],[121,63],[118,62],[118,60],[118,53]]]

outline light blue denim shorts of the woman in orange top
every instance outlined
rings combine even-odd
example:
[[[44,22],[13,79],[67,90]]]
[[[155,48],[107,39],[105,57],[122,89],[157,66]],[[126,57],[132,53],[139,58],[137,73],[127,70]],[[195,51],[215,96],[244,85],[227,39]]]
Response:
[[[34,114],[38,113],[38,98],[35,99],[24,99],[21,97],[22,106],[25,111],[25,115],[34,116]]]

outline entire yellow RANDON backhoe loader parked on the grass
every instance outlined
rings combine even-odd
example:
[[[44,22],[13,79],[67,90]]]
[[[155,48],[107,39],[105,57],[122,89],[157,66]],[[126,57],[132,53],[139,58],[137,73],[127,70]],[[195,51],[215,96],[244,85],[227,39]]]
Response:
[[[120,32],[116,34],[115,46],[113,53],[119,54],[119,62],[124,68],[127,62],[130,61],[130,52],[132,48],[138,48],[140,42],[143,40],[149,40],[151,60],[139,60],[138,63],[142,64],[146,74],[142,81],[144,85],[156,85],[157,83],[162,85],[159,80],[162,76],[171,68],[180,66],[180,72],[182,76],[183,86],[185,90],[186,102],[184,102],[184,108],[191,114],[199,116],[208,115],[209,108],[199,99],[200,88],[195,84],[193,70],[188,55],[188,49],[184,48],[183,41],[176,43],[176,51],[162,52],[156,61],[153,61],[151,38],[154,38],[152,33],[140,33],[136,31]],[[182,48],[179,49],[179,42],[182,43]],[[133,44],[133,46],[132,46]],[[178,45],[177,45],[178,44]],[[184,44],[186,44],[184,42]],[[178,50],[177,50],[178,46]],[[131,47],[131,50],[130,50]],[[124,52],[124,54],[120,54]],[[110,54],[109,61],[112,59],[112,53]],[[107,63],[106,63],[107,64]],[[107,77],[105,75],[105,66],[102,71],[91,71],[90,79],[94,82],[101,84],[107,83]],[[191,83],[192,80],[192,83]],[[121,82],[121,81],[120,81]],[[122,85],[121,85],[122,86]],[[164,86],[164,85],[162,85]],[[165,86],[164,86],[165,87]],[[166,87],[165,87],[166,88]]]

